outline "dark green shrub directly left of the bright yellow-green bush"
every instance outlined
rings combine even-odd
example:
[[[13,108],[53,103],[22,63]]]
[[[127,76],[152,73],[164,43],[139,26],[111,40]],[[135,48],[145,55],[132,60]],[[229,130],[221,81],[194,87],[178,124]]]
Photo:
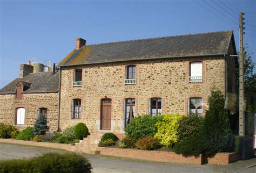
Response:
[[[157,133],[156,122],[161,116],[150,117],[142,115],[133,118],[125,127],[125,134],[134,140],[145,136],[154,136]]]

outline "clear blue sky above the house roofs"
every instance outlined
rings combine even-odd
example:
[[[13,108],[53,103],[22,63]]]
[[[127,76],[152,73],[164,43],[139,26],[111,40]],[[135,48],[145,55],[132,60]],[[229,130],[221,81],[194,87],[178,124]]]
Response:
[[[18,77],[21,63],[33,58],[60,62],[78,37],[86,44],[99,44],[234,30],[238,49],[239,11],[245,12],[244,43],[256,62],[255,9],[254,0],[0,0],[0,88]]]

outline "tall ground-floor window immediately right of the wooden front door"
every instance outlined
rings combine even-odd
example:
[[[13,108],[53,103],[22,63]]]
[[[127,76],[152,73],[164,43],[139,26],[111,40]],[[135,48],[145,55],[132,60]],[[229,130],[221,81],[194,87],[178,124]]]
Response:
[[[136,100],[134,98],[125,99],[125,127],[135,116],[135,102]]]

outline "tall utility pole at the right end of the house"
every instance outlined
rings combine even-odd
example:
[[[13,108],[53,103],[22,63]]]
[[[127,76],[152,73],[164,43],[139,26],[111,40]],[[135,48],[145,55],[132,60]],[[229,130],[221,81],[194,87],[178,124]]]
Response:
[[[243,13],[239,13],[239,135],[245,136],[245,91],[244,91],[244,44]],[[245,159],[245,143],[242,147],[242,159]]]

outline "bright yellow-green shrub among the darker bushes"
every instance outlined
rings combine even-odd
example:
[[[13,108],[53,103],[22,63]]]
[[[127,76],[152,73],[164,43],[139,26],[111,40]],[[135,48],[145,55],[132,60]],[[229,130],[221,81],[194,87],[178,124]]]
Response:
[[[163,114],[160,121],[157,121],[156,127],[158,129],[155,138],[159,139],[161,145],[171,147],[178,141],[177,129],[179,127],[178,121],[183,118],[180,114]]]

